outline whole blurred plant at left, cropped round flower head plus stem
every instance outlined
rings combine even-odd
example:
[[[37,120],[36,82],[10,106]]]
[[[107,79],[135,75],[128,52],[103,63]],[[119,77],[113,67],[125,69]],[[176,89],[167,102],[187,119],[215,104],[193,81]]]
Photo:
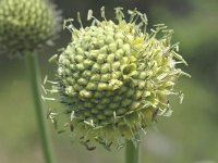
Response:
[[[46,110],[40,99],[40,73],[37,50],[51,41],[59,28],[60,16],[47,0],[0,1],[0,53],[25,58],[31,88],[47,163],[53,163],[51,138],[46,124]]]

